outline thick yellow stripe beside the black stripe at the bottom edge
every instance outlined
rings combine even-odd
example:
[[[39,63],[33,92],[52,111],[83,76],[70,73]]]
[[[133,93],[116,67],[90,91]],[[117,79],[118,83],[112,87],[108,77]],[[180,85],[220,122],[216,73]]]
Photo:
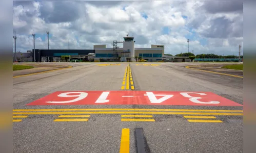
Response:
[[[122,129],[120,153],[130,152],[130,129]]]

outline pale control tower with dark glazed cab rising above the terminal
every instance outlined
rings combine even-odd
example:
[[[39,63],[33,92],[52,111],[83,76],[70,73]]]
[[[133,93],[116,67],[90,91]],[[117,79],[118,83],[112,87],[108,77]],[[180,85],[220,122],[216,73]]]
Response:
[[[129,53],[128,58],[130,61],[135,62],[136,60],[134,59],[134,42],[133,41],[134,37],[124,37],[124,52]]]

